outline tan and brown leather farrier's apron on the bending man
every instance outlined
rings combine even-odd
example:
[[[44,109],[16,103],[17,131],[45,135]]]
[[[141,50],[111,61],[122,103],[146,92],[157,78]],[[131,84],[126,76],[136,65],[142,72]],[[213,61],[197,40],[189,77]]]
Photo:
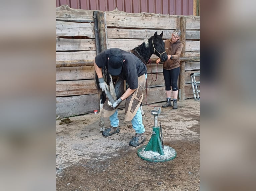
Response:
[[[132,93],[129,97],[125,99],[125,118],[124,121],[130,121],[133,119],[135,116],[140,103],[142,102],[143,99],[143,90],[145,87],[146,83],[146,78],[145,74],[141,75],[138,77],[138,85],[139,87],[135,90],[134,93]],[[116,92],[116,97],[119,99],[124,92],[126,91],[126,81],[118,78],[116,83],[114,84],[115,92]],[[118,108],[119,105],[117,105],[115,108],[110,107],[108,105],[109,99],[107,98],[105,103],[103,104],[103,107],[100,111],[100,115],[102,117],[110,117],[111,115],[114,114],[116,109]]]

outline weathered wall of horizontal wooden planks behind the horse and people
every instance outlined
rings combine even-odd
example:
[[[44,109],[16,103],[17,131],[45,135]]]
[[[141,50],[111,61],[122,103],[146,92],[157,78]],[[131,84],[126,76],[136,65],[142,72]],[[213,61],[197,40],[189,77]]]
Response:
[[[68,117],[99,109],[93,60],[97,55],[93,10],[56,8],[56,114]],[[169,39],[178,16],[153,13],[104,12],[106,48],[131,50],[157,31]],[[185,57],[200,56],[200,17],[186,17]],[[98,50],[99,51],[99,50]],[[148,64],[147,93],[143,104],[166,99],[162,64]],[[62,67],[61,67],[62,66]],[[65,66],[65,67],[63,67]],[[72,66],[72,67],[67,67]],[[200,62],[185,63],[185,98],[192,98],[190,74],[200,71]],[[155,80],[156,79],[156,80]]]

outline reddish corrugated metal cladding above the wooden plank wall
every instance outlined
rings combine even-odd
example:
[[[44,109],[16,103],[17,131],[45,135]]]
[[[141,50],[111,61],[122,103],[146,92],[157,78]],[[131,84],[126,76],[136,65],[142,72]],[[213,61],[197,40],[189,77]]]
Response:
[[[56,7],[60,5],[85,10],[112,11],[117,7],[127,13],[193,15],[193,0],[56,0]]]

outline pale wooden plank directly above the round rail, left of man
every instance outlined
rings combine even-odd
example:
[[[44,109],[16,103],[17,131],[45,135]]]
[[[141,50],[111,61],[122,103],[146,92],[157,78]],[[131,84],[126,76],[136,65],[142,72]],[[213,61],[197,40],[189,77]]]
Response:
[[[96,51],[56,52],[56,61],[94,60]]]

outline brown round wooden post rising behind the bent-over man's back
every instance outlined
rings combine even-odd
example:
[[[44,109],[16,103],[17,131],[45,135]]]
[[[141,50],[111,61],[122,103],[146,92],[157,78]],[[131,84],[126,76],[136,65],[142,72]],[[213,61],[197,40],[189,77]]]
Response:
[[[102,52],[107,49],[106,13],[103,11],[99,11],[97,13],[97,18],[98,18],[99,40],[100,40],[100,52]]]

